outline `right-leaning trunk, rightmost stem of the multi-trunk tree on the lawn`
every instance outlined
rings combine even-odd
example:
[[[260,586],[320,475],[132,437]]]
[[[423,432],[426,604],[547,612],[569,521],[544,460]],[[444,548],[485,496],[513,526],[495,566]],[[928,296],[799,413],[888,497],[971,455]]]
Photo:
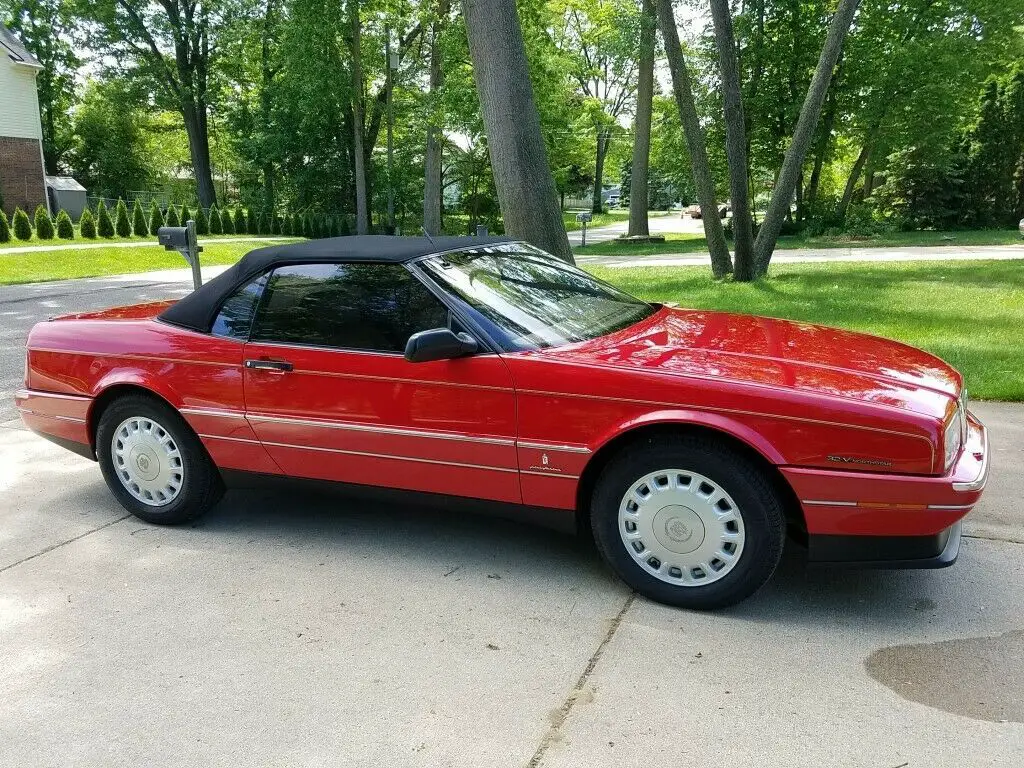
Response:
[[[790,210],[790,203],[793,200],[797,179],[804,165],[804,158],[807,156],[807,150],[814,137],[814,128],[821,115],[821,106],[824,103],[825,94],[828,92],[828,84],[831,82],[836,61],[839,60],[840,52],[843,50],[843,41],[850,31],[850,25],[853,24],[853,16],[859,4],[860,0],[840,0],[836,14],[828,25],[828,34],[825,37],[824,46],[821,48],[821,56],[818,58],[817,69],[814,71],[814,77],[807,89],[804,105],[800,110],[797,128],[793,132],[793,141],[790,143],[790,148],[785,152],[785,159],[782,161],[778,183],[772,190],[765,219],[761,223],[761,229],[754,243],[754,260],[760,274],[765,274],[768,271],[768,264],[771,262],[771,255],[775,250],[782,221]]]

